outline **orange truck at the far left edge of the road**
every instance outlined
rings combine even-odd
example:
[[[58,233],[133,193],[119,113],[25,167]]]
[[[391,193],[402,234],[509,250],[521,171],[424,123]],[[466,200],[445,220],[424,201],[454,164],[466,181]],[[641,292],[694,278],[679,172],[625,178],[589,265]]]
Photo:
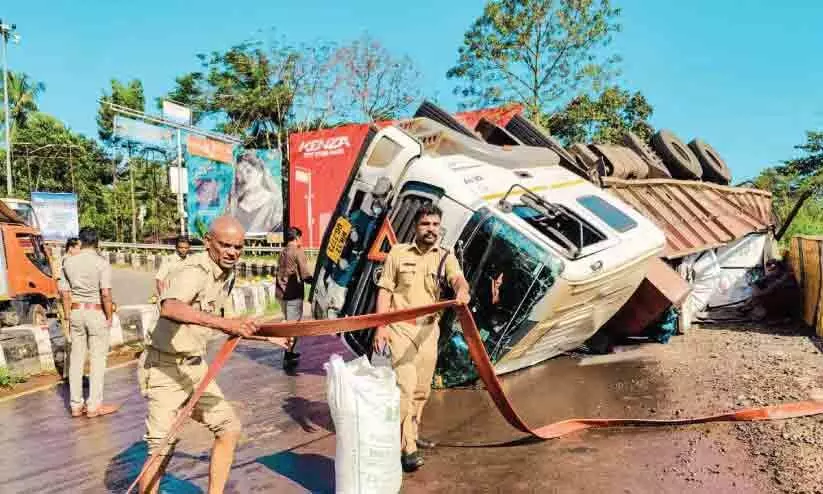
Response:
[[[57,296],[40,231],[0,201],[0,324],[45,325]]]

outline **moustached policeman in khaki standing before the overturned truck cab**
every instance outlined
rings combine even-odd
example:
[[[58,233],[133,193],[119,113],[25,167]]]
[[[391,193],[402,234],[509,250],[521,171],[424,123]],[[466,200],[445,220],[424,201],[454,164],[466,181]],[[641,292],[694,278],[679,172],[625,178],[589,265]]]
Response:
[[[454,289],[457,300],[464,304],[469,302],[469,284],[457,259],[437,245],[442,216],[437,206],[421,207],[415,215],[414,243],[392,247],[377,284],[380,287],[378,313],[437,302],[441,262],[445,279]],[[391,350],[392,367],[400,388],[401,463],[407,472],[423,465],[423,458],[417,452],[417,432],[437,363],[438,320],[438,314],[431,314],[419,318],[416,323],[379,327],[374,335],[375,351],[382,351],[387,344]]]

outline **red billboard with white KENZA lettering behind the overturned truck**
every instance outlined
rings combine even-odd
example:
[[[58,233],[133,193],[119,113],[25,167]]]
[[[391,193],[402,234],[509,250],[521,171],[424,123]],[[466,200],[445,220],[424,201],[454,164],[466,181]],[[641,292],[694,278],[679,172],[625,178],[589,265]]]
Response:
[[[353,124],[289,136],[289,224],[303,231],[305,247],[320,247],[368,130]]]

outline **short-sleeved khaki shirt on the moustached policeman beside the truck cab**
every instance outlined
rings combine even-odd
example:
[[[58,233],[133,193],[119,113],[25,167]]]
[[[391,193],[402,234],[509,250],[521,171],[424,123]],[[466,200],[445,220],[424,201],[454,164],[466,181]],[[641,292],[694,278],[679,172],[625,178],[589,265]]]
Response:
[[[389,251],[383,264],[383,274],[377,286],[391,292],[390,310],[410,309],[431,305],[440,298],[440,284],[437,269],[440,261],[448,251],[442,247],[432,247],[425,254],[417,244],[396,244]],[[448,253],[444,266],[446,281],[457,275],[463,275],[457,258]],[[425,316],[418,319],[417,327],[435,324],[437,316]],[[394,325],[398,330],[414,330],[409,323]]]

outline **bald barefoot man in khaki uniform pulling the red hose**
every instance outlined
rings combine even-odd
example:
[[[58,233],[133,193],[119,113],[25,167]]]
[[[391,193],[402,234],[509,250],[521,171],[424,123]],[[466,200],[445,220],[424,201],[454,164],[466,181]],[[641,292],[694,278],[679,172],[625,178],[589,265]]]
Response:
[[[205,237],[206,252],[189,256],[173,270],[160,296],[160,319],[138,365],[140,390],[148,400],[145,440],[149,454],[160,451],[162,462],[146,472],[140,492],[157,492],[172,447],[161,451],[177,412],[207,371],[206,345],[220,331],[251,336],[254,319],[225,318],[234,284],[234,266],[243,250],[245,231],[230,216],[216,218]],[[283,338],[271,338],[286,346]],[[240,422],[217,383],[197,402],[192,417],[215,435],[209,469],[209,493],[223,492],[240,437]]]

